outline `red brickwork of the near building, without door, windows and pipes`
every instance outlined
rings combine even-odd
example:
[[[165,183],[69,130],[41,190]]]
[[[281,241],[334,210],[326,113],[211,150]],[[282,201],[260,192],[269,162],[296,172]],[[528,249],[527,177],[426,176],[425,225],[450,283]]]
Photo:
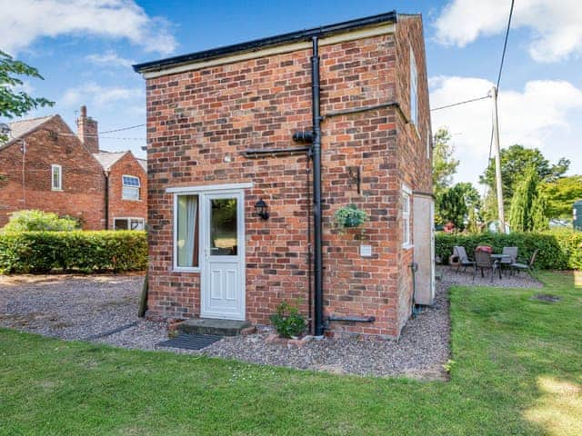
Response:
[[[406,183],[413,191],[432,192],[430,115],[420,16],[398,15],[395,27],[320,45],[324,116],[400,105],[322,122],[325,314],[376,318],[330,322],[329,332],[338,336],[397,337],[410,315],[413,251],[402,248],[401,189]],[[410,49],[418,70],[417,127],[407,122]],[[249,181],[246,319],[268,323],[283,300],[303,302],[308,315],[311,163],[306,154],[248,159],[243,152],[295,146],[292,134],[311,128],[310,56],[310,48],[300,47],[146,78],[148,316],[200,313],[200,274],[173,271],[173,195],[166,188]],[[359,193],[351,167],[360,170]],[[255,214],[261,198],[269,204],[267,221]],[[334,228],[333,214],[348,203],[368,213],[362,231]],[[372,246],[372,257],[360,256],[363,243]]]

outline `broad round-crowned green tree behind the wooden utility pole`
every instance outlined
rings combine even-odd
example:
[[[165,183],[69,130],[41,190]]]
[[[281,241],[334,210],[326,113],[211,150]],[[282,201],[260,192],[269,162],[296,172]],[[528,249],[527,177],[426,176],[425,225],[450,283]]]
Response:
[[[528,168],[534,168],[540,181],[552,182],[567,172],[570,161],[561,158],[552,165],[537,150],[537,148],[526,148],[523,145],[511,145],[507,149],[501,150],[501,183],[503,196],[509,202],[514,195],[516,184],[520,182]],[[485,173],[479,177],[480,183],[487,184],[491,191],[495,192],[495,160],[491,159]]]

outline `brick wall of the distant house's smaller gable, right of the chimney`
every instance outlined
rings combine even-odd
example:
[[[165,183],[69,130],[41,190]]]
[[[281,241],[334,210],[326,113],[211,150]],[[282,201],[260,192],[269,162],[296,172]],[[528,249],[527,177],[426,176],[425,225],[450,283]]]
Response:
[[[139,200],[124,200],[122,175],[139,178]],[[109,229],[114,228],[116,217],[144,218],[147,221],[147,174],[131,152],[113,164],[109,171]]]

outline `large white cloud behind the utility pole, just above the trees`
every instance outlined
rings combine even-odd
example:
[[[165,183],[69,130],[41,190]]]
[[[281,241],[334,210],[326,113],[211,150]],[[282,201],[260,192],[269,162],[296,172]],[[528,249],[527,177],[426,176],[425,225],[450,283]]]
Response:
[[[486,95],[493,86],[476,77],[438,76],[429,81],[432,107]],[[491,138],[492,101],[482,100],[432,112],[433,132],[446,126],[453,134],[456,157],[461,161],[457,181],[477,183],[487,166]],[[565,81],[527,82],[523,91],[498,96],[501,147],[523,144],[539,148],[547,158],[573,160],[579,154],[573,134],[573,111],[582,108],[582,90]],[[558,139],[559,138],[559,139]],[[566,140],[564,140],[566,138]],[[559,144],[559,146],[557,146]],[[573,167],[580,165],[573,162]]]

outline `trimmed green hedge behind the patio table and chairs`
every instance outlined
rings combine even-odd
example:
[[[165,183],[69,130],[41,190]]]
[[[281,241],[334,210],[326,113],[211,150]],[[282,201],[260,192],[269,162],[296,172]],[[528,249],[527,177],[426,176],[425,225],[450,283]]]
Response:
[[[538,269],[582,270],[582,232],[573,230],[510,234],[439,233],[435,238],[435,250],[443,263],[448,263],[448,256],[453,253],[455,245],[464,246],[470,257],[477,245],[489,245],[494,253],[501,253],[503,247],[517,247],[520,260],[529,259],[539,249],[534,264]]]

